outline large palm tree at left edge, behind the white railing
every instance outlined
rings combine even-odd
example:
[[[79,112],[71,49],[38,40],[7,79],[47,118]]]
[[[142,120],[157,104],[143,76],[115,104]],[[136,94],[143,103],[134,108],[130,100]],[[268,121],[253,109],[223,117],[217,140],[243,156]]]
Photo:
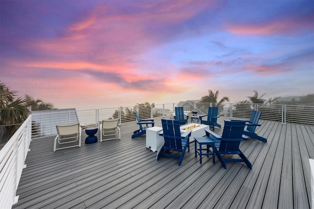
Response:
[[[10,138],[29,115],[26,100],[17,96],[4,83],[0,83],[0,127],[4,127]]]

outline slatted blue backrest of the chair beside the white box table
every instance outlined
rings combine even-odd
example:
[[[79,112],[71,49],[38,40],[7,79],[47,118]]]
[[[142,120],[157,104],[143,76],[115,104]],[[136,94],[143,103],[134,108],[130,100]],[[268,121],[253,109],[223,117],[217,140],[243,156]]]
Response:
[[[179,120],[161,119],[164,146],[170,150],[182,152],[182,140]]]

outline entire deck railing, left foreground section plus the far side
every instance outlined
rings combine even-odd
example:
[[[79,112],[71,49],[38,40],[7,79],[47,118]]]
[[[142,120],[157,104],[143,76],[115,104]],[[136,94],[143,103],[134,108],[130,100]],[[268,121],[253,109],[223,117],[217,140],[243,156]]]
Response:
[[[83,127],[96,126],[103,119],[120,118],[120,123],[136,121],[134,111],[139,111],[140,118],[171,117],[178,104],[138,105],[132,107],[116,107],[106,109],[80,110],[74,112],[55,111],[61,121],[77,120]],[[206,114],[209,106],[218,106],[219,115],[230,118],[248,119],[252,110],[262,111],[262,120],[281,123],[293,123],[314,126],[314,106],[304,105],[265,105],[265,104],[212,104],[186,103],[180,104],[186,111],[198,110],[198,114]],[[73,119],[73,115],[75,118]],[[67,118],[68,117],[68,118]],[[41,112],[41,123],[36,124],[30,115],[19,130],[10,138],[0,150],[0,208],[11,208],[18,196],[16,190],[21,178],[22,170],[26,167],[25,159],[31,138],[56,134],[55,125],[58,121],[52,111]],[[47,118],[45,120],[45,118]],[[52,119],[53,118],[53,119]],[[55,131],[55,133],[53,132]],[[48,136],[48,135],[47,135]]]

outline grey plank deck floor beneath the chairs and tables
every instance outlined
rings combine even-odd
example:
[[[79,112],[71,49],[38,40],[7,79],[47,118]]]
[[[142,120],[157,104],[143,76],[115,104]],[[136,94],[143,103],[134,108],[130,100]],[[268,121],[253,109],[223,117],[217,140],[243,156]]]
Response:
[[[54,137],[34,139],[13,208],[310,208],[314,127],[260,123],[256,132],[268,142],[241,142],[252,170],[244,163],[225,170],[212,157],[201,165],[194,142],[181,166],[172,158],[156,161],[145,135],[131,139],[135,122],[120,126],[121,140],[84,144],[83,133],[80,148],[53,152]]]

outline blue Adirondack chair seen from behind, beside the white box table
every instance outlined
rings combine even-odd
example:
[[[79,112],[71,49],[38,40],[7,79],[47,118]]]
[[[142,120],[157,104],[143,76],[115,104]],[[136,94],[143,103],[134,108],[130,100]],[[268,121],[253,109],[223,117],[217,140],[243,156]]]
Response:
[[[179,159],[180,166],[186,148],[188,148],[188,152],[190,152],[189,137],[191,136],[192,130],[185,131],[185,133],[181,135],[179,120],[161,119],[161,124],[162,131],[160,132],[160,135],[164,137],[165,142],[158,149],[157,160],[160,159],[161,156],[176,158]],[[177,153],[169,153],[168,151],[176,151],[181,153],[181,155],[179,156]]]

